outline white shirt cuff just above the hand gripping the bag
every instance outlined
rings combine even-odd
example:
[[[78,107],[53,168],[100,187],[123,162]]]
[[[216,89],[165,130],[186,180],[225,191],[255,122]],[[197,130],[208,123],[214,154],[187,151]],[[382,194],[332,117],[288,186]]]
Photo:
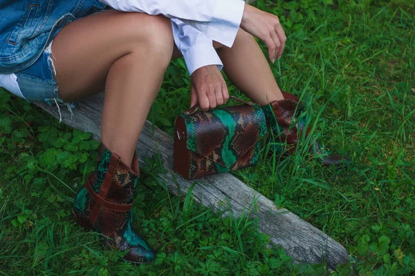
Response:
[[[194,44],[191,48],[183,50],[182,54],[190,76],[203,66],[216,65],[219,70],[223,68],[223,63],[212,43]]]

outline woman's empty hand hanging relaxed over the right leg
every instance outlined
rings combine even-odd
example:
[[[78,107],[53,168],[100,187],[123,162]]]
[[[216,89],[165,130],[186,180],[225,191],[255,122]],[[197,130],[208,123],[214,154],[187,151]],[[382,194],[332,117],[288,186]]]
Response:
[[[271,62],[274,63],[275,59],[281,57],[286,35],[277,16],[246,4],[241,28],[266,43]]]

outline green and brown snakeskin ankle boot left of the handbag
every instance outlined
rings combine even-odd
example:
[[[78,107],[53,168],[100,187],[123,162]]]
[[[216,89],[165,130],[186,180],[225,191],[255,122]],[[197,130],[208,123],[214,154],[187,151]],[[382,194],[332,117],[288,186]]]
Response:
[[[105,247],[127,250],[124,259],[128,262],[147,263],[156,256],[132,229],[131,207],[139,175],[135,152],[132,168],[129,168],[101,143],[95,172],[77,193],[72,215],[84,228],[104,234]]]

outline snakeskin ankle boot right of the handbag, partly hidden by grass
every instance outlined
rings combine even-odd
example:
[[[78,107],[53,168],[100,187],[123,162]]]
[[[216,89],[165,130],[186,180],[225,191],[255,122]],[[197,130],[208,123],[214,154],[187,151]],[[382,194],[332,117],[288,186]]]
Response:
[[[289,94],[288,92],[282,92],[282,95],[285,99],[273,101],[270,104],[261,107],[262,110],[264,110],[268,127],[273,131],[275,141],[273,151],[282,152],[284,143],[286,143],[288,145],[288,152],[293,154],[299,137],[301,137],[304,131],[306,132],[306,135],[308,135],[311,128],[305,128],[307,121],[306,116],[299,119],[295,126],[291,126],[292,121],[297,120],[299,115],[303,112],[303,105],[295,95]],[[309,152],[322,156],[324,166],[334,165],[337,168],[346,168],[350,163],[348,157],[332,154],[329,150],[322,148],[313,137],[311,138]]]

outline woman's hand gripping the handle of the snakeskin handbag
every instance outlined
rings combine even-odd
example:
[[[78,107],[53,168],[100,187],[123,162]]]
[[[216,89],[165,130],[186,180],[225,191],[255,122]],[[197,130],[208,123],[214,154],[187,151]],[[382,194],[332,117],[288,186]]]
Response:
[[[216,108],[229,99],[228,87],[218,66],[203,66],[192,74],[190,107],[199,102],[202,111]]]

